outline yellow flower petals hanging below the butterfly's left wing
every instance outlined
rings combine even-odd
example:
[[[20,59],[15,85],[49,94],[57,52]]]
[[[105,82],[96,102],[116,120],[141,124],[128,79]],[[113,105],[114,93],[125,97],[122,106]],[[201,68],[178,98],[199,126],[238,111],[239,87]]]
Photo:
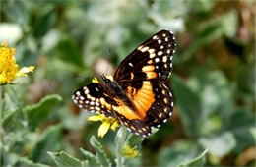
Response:
[[[89,121],[102,121],[102,124],[98,128],[97,136],[100,138],[103,138],[104,135],[107,133],[109,128],[111,128],[113,131],[116,130],[117,127],[119,127],[118,120],[115,118],[107,118],[103,115],[94,115],[88,118]]]

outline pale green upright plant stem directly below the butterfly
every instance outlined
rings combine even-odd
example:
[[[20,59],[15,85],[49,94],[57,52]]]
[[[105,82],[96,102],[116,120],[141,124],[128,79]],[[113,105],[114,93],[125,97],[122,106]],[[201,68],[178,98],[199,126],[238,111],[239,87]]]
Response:
[[[127,136],[127,130],[125,127],[121,126],[119,131],[116,134],[116,166],[122,167],[124,166],[124,157],[122,156],[122,149],[124,146],[124,142]]]

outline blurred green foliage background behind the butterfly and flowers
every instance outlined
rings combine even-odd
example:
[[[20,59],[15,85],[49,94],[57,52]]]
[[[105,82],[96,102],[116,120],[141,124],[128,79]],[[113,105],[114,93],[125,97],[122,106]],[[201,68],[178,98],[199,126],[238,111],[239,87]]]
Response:
[[[0,42],[16,48],[28,78],[4,87],[1,163],[54,165],[47,151],[83,159],[99,122],[72,93],[112,74],[139,44],[162,28],[177,49],[169,87],[174,114],[142,143],[131,164],[176,166],[208,149],[205,165],[256,165],[255,1],[1,0]],[[111,51],[109,51],[111,50]],[[55,95],[49,95],[55,94]],[[57,95],[58,94],[58,95]],[[113,159],[114,132],[102,143]]]

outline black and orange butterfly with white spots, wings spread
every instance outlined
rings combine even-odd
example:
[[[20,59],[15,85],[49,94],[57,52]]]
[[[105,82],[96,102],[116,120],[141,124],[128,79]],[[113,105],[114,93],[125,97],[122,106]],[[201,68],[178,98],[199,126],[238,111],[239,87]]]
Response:
[[[103,83],[89,83],[75,91],[74,103],[118,119],[136,135],[151,136],[173,111],[172,94],[162,82],[171,74],[175,47],[173,33],[160,30],[121,62],[113,78],[102,75]]]

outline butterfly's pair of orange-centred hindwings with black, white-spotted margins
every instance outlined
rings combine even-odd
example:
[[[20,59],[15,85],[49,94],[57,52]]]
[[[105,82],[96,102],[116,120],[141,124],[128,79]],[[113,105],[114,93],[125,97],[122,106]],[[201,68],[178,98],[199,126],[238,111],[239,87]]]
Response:
[[[134,113],[140,117],[131,119],[123,110],[116,111],[119,113],[117,116],[132,133],[150,136],[152,128],[159,128],[172,114],[173,99],[170,90],[157,81],[126,83],[125,89]]]

